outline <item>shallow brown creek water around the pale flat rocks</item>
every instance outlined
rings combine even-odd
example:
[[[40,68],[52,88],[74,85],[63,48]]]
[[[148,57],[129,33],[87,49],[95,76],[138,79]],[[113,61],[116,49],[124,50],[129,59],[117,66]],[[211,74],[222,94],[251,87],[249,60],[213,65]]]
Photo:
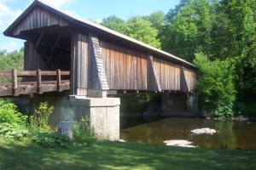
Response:
[[[218,133],[189,133],[195,128],[203,127],[216,129]],[[200,148],[256,150],[256,122],[176,117],[148,120],[120,117],[120,139],[150,144],[185,139]]]

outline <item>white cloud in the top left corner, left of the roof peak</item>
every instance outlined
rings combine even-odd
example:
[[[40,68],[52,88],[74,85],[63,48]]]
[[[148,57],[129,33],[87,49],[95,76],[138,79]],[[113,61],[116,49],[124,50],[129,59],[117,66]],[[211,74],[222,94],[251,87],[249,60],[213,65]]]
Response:
[[[5,3],[7,0],[0,0],[0,31],[6,29],[21,13],[20,9],[11,9]]]

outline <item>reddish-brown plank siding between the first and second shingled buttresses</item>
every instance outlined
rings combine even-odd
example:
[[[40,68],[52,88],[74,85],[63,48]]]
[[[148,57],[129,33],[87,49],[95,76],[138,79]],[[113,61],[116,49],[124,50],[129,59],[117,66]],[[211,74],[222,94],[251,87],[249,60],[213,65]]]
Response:
[[[147,90],[147,55],[100,42],[109,89]]]

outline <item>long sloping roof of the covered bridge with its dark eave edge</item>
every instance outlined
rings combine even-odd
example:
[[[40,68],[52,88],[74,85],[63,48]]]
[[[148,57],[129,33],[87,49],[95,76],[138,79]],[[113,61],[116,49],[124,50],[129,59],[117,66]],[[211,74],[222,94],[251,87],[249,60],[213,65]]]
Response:
[[[195,65],[189,63],[188,61],[186,61],[184,59],[180,59],[177,56],[166,53],[165,51],[162,51],[158,48],[154,48],[154,47],[152,47],[152,46],[150,46],[150,45],[148,45],[144,42],[137,41],[134,38],[125,36],[124,34],[121,34],[117,31],[113,31],[113,30],[111,30],[111,29],[109,29],[105,26],[101,26],[101,25],[99,25],[99,24],[97,24],[93,21],[85,20],[84,18],[79,17],[79,15],[70,14],[70,13],[67,13],[66,11],[63,11],[63,10],[59,9],[59,8],[51,7],[51,6],[49,6],[45,3],[40,2],[39,0],[35,0],[28,8],[26,8],[26,10],[22,14],[20,14],[20,16],[15,20],[15,22],[12,23],[3,32],[3,34],[5,36],[15,37],[15,36],[12,35],[12,32],[11,32],[13,30],[13,28],[15,28],[15,26],[17,26],[20,23],[20,20],[22,20],[26,16],[26,14],[28,14],[30,11],[32,11],[32,9],[35,8],[36,6],[40,6],[41,8],[45,8],[45,9],[49,10],[50,12],[52,12],[54,14],[57,14],[57,15],[60,15],[61,17],[69,20],[70,22],[78,24],[79,26],[88,27],[92,30],[99,31],[99,32],[107,35],[108,37],[117,38],[120,41],[125,41],[125,42],[131,43],[133,45],[136,45],[137,47],[145,48],[145,49],[148,50],[148,52],[161,54],[161,55],[163,55],[167,58],[171,58],[171,59],[177,61],[178,63],[181,63],[183,65],[188,65],[189,67],[194,68],[194,69],[197,70],[197,67]]]

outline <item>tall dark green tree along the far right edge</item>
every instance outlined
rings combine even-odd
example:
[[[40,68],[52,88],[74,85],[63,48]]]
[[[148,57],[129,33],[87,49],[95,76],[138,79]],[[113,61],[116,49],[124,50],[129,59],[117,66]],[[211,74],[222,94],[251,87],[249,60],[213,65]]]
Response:
[[[254,0],[223,0],[222,10],[230,24],[232,41],[229,57],[236,60],[236,88],[256,99],[256,2]],[[252,95],[253,94],[253,95]]]

